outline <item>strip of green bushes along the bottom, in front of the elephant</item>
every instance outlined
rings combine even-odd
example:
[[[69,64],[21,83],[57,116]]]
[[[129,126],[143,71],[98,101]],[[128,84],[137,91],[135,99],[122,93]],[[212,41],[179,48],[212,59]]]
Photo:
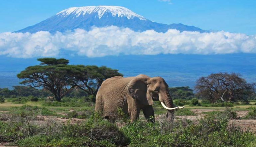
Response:
[[[228,125],[228,117],[206,115],[194,123],[159,119],[155,124],[145,121],[115,124],[91,115],[89,119],[66,123],[40,123],[22,115],[0,121],[0,142],[18,146],[253,146],[256,135]]]

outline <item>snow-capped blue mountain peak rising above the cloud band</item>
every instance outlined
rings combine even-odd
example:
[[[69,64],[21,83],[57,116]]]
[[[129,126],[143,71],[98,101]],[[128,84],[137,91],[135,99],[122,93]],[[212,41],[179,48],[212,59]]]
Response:
[[[120,6],[72,7],[57,13],[51,18],[16,32],[35,33],[38,31],[49,31],[50,33],[55,33],[57,31],[65,32],[76,28],[88,31],[92,26],[105,27],[111,25],[128,27],[134,31],[153,29],[157,32],[166,32],[168,29],[177,29],[180,31],[206,32],[198,27],[188,26],[181,23],[168,25],[153,22]]]

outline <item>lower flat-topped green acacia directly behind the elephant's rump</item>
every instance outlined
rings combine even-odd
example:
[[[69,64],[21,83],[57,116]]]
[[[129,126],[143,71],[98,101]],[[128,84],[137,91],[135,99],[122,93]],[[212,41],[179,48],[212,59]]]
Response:
[[[114,76],[123,76],[118,70],[106,66],[73,65],[68,68],[69,77],[72,79],[71,86],[78,87],[88,95],[94,96],[104,80]]]

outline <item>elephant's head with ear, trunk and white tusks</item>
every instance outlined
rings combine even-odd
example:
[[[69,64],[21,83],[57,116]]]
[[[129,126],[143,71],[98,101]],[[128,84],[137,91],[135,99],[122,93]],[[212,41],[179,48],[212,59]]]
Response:
[[[168,85],[161,77],[150,78],[146,75],[138,75],[129,82],[127,92],[143,105],[153,105],[153,100],[160,101],[162,106],[168,110],[166,117],[170,121],[174,119],[175,109],[184,108],[174,107]]]

